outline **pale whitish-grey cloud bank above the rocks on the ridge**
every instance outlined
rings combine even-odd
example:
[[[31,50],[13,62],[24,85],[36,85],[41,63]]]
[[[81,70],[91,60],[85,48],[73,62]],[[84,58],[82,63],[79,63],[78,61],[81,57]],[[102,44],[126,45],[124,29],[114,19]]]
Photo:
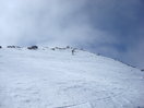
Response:
[[[1,44],[93,43],[107,34],[89,24],[87,0],[1,1]],[[107,40],[107,39],[106,39]]]

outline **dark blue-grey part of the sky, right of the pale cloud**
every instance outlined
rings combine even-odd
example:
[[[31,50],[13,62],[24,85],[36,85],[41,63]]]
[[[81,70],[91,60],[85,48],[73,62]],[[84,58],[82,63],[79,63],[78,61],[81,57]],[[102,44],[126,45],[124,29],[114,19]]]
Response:
[[[143,68],[144,2],[142,0],[93,0],[87,9],[93,26],[109,33],[115,38],[115,41],[110,43],[93,43],[89,48],[94,47],[96,52]]]

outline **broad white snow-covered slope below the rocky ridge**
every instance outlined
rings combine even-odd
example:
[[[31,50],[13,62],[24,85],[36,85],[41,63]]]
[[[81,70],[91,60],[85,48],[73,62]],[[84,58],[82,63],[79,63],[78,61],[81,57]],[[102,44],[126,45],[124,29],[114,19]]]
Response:
[[[144,73],[71,49],[0,49],[0,108],[144,108]]]

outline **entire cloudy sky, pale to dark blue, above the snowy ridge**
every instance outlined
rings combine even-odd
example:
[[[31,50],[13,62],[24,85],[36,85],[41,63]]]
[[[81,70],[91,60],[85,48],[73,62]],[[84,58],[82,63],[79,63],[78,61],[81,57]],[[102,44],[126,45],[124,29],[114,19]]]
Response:
[[[71,45],[144,68],[144,0],[0,0],[0,45]]]

